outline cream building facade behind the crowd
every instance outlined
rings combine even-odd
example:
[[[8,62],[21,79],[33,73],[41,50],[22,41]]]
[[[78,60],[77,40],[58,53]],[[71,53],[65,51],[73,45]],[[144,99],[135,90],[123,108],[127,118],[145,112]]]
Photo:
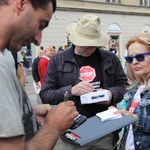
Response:
[[[68,44],[66,25],[88,13],[100,17],[101,31],[117,42],[118,57],[123,57],[129,38],[150,34],[150,0],[57,0],[57,11],[43,32],[41,45],[52,44],[58,49]],[[31,47],[36,56],[38,47]]]

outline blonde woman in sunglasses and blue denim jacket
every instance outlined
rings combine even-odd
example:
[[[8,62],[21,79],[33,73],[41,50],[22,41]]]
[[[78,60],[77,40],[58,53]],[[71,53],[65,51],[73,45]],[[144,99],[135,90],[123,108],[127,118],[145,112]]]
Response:
[[[138,122],[127,128],[125,150],[150,149],[150,35],[132,37],[127,45],[128,75],[132,84],[124,95],[126,110],[119,110],[128,116],[138,118]],[[126,128],[126,131],[127,131]]]

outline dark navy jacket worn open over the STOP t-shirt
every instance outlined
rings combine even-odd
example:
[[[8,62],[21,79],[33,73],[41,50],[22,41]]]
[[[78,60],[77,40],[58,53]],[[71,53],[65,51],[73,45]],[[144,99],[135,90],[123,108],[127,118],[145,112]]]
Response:
[[[103,88],[112,92],[111,104],[116,105],[126,92],[126,75],[119,59],[113,53],[100,49],[97,51],[102,61]],[[69,99],[76,101],[76,97],[71,95],[71,87],[80,82],[79,69],[74,57],[74,47],[55,54],[47,67],[40,92],[43,103],[58,104],[62,102],[65,91],[68,91]]]

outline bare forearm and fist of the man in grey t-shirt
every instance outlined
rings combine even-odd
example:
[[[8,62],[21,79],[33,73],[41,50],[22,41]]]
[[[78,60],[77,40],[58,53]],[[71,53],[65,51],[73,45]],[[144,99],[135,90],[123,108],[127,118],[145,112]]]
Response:
[[[72,101],[62,102],[49,110],[44,125],[31,140],[24,143],[23,136],[3,138],[0,139],[0,149],[52,150],[59,136],[73,124],[78,114]]]

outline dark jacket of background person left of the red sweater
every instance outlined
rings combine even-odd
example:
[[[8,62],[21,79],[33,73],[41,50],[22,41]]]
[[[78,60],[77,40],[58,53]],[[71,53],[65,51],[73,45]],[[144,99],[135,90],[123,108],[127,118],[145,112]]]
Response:
[[[32,63],[32,77],[34,79],[35,82],[39,82],[40,81],[40,76],[38,73],[38,63],[40,61],[39,57],[36,57]]]

